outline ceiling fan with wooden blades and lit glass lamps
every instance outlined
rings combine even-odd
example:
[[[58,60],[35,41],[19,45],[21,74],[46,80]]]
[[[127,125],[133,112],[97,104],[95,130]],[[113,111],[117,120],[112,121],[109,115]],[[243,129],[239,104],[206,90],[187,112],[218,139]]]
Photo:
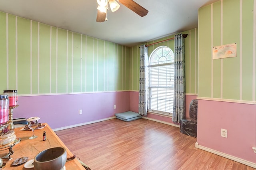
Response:
[[[139,16],[143,17],[148,14],[148,10],[134,2],[133,0],[117,0]],[[98,2],[98,14],[96,18],[96,22],[104,22],[107,21],[108,18],[106,17],[108,11],[108,4],[112,12],[118,10],[120,5],[116,2],[116,0],[97,0]]]

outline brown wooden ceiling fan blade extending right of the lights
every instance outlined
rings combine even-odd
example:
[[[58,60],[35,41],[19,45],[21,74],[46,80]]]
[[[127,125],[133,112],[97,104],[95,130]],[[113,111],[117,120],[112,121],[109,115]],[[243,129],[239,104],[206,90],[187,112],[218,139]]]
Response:
[[[133,0],[119,0],[119,2],[141,17],[146,16],[148,14],[148,10],[146,10]]]

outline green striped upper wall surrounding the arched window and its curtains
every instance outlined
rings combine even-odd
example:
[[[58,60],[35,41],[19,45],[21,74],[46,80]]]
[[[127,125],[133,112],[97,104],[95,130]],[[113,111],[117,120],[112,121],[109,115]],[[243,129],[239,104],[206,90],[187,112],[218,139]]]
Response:
[[[198,90],[198,29],[188,30],[182,32],[182,34],[189,34],[185,38],[185,83],[186,83],[186,94],[197,95]],[[156,42],[161,42],[163,40],[168,40],[174,38],[174,35],[160,38],[151,42],[146,42],[145,44],[151,44]],[[148,46],[148,57],[154,49],[159,46],[167,46],[174,51],[174,40],[168,40],[165,42],[157,43]],[[139,68],[140,68],[140,46],[136,45],[130,49],[130,87],[134,91],[139,90]]]

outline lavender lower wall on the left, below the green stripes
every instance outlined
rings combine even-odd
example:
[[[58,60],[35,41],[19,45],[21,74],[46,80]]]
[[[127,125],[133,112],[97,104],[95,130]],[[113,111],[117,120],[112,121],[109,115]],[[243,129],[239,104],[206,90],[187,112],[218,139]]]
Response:
[[[18,97],[13,117],[40,117],[51,128],[61,128],[114,116],[130,110],[130,92]],[[116,105],[116,109],[114,109]],[[82,115],[78,114],[82,109]]]

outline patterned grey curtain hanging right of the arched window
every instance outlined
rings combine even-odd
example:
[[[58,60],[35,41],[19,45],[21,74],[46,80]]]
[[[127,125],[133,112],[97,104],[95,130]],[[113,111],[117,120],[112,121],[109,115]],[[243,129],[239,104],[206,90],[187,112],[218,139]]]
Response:
[[[172,121],[185,118],[185,52],[182,34],[174,37],[174,99]]]

